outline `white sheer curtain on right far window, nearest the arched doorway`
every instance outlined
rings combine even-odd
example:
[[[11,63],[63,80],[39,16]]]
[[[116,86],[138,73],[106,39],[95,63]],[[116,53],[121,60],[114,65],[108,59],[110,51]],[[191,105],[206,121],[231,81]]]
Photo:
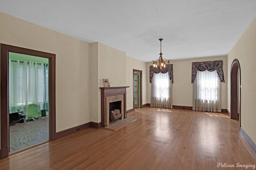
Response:
[[[221,82],[217,71],[197,71],[193,83],[193,110],[221,112]]]

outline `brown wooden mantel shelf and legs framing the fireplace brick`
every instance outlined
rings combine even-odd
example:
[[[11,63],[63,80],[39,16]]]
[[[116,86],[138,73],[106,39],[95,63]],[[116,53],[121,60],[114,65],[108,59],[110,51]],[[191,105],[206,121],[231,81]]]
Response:
[[[130,86],[121,86],[121,87],[100,87],[101,90],[101,124],[102,127],[106,127],[108,125],[107,113],[109,110],[107,110],[107,98],[109,99],[110,96],[118,96],[122,95],[122,110],[124,119],[127,117],[126,115],[126,88]]]

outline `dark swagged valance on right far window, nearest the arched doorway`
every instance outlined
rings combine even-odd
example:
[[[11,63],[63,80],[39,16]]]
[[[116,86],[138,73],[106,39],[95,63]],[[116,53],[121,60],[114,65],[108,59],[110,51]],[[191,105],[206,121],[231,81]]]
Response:
[[[205,71],[205,70],[208,70],[208,71],[216,70],[220,78],[220,82],[225,82],[224,73],[223,73],[223,62],[222,60],[218,60],[218,61],[193,62],[191,83],[194,82],[197,71]]]

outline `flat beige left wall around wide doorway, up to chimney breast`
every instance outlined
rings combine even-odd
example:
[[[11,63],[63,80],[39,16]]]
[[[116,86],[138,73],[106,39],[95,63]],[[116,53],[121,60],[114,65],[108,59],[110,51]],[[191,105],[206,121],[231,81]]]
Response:
[[[56,54],[56,131],[90,122],[90,44],[0,12],[0,43]]]

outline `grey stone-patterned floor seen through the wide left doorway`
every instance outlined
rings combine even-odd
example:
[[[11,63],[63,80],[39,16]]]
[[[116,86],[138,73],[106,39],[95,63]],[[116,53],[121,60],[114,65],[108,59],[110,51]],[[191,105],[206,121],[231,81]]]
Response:
[[[10,126],[10,152],[36,145],[48,139],[48,115],[34,121]]]

